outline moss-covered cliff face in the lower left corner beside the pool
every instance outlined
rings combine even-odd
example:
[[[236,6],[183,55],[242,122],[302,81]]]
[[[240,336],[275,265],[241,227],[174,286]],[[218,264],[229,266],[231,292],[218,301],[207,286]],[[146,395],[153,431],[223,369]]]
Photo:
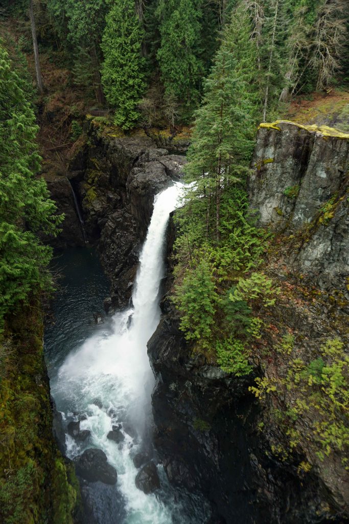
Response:
[[[80,501],[73,467],[52,435],[38,300],[7,319],[1,341],[0,521],[72,524]]]

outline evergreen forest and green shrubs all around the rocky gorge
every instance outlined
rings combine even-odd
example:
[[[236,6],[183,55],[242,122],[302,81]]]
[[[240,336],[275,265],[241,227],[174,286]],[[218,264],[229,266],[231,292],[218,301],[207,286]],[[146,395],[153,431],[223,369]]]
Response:
[[[310,360],[288,361],[283,378],[260,378],[269,311],[283,292],[268,270],[277,243],[250,209],[247,179],[258,126],[290,120],[295,104],[321,105],[333,95],[346,101],[336,110],[344,136],[348,91],[348,0],[3,0],[0,385],[10,316],[57,286],[50,243],[64,216],[45,176],[67,165],[66,146],[80,147],[86,115],[116,137],[185,133],[170,293],[179,329],[208,364],[253,376],[250,394],[262,402],[301,388],[299,402],[273,412],[287,434],[278,457],[287,461],[305,438],[320,461],[343,453],[349,359],[340,333]],[[299,187],[288,191],[292,199]],[[321,210],[322,220],[335,205]],[[274,350],[287,360],[294,343],[285,332]],[[291,426],[309,406],[314,423],[305,437]]]

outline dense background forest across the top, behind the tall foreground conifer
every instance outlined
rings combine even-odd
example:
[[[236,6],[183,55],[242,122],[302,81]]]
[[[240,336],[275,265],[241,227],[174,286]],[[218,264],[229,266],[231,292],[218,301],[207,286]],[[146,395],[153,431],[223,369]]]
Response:
[[[28,7],[7,0],[2,15],[26,17]],[[347,0],[35,0],[33,7],[39,48],[59,51],[72,82],[93,87],[125,128],[193,122],[235,8],[244,10],[245,38],[255,46],[249,82],[264,120],[297,94],[348,80]],[[231,30],[234,38],[240,28]]]

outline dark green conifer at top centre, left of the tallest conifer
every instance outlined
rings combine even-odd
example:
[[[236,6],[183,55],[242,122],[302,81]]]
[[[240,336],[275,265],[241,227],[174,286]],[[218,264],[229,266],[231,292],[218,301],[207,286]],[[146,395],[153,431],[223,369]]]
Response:
[[[200,54],[198,0],[160,0],[157,16],[161,46],[157,51],[165,101],[186,106],[191,114],[198,103],[199,80],[204,72]]]

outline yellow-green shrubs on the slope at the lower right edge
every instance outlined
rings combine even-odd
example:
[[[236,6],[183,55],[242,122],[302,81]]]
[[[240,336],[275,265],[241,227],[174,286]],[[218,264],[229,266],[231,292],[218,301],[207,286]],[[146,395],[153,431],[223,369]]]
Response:
[[[249,389],[257,398],[263,400],[268,394],[282,398],[284,394],[285,399],[291,400],[286,401],[286,409],[278,411],[277,418],[288,436],[289,451],[303,439],[312,442],[320,460],[331,452],[347,449],[349,357],[341,340],[327,340],[320,347],[320,355],[308,364],[301,358],[291,358],[278,377],[258,377],[255,381],[256,386]],[[297,424],[289,424],[299,417],[307,417],[306,432],[303,426],[300,430]]]

